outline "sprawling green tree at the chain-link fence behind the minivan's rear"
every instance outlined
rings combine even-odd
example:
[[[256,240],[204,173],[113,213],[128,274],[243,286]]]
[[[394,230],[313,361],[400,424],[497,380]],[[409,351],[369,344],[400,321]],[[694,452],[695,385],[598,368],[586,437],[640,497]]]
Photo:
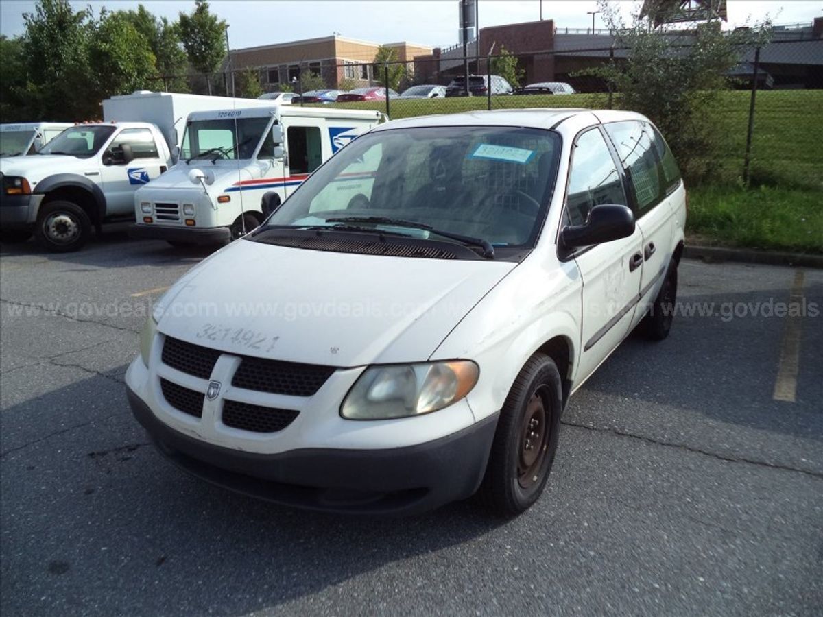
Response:
[[[616,46],[628,50],[625,62],[611,62],[584,74],[601,77],[619,95],[621,108],[648,116],[677,155],[686,179],[700,183],[728,154],[727,132],[718,99],[730,87],[728,73],[743,54],[767,39],[769,23],[724,32],[718,21],[691,28],[688,46],[667,32],[659,12],[635,16],[627,26],[616,7],[601,2]],[[682,24],[677,24],[682,29]]]

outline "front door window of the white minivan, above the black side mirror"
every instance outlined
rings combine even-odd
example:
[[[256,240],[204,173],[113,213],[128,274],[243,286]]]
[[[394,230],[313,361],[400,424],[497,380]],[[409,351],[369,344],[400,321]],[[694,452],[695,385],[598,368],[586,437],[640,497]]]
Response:
[[[604,203],[625,206],[625,195],[614,159],[597,128],[577,139],[569,170],[566,211],[571,225],[583,225],[588,212]]]

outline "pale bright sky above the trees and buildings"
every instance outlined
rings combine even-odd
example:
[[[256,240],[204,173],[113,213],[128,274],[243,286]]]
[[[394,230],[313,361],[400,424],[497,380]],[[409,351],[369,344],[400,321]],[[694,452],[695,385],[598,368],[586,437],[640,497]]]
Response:
[[[179,12],[189,12],[194,2],[177,0],[115,0],[114,2],[71,2],[78,10],[91,6],[95,12],[106,7],[109,10],[129,9],[142,3],[157,16],[171,20]],[[351,2],[328,0],[314,2],[226,2],[212,0],[212,12],[225,19],[229,25],[232,49],[272,43],[285,43],[297,39],[311,39],[337,33],[351,39],[376,43],[408,41],[425,45],[448,46],[458,41],[457,0],[418,0],[416,2]],[[621,12],[630,13],[635,2],[620,2]],[[20,35],[24,30],[23,13],[33,12],[35,2],[0,0],[0,34]],[[823,2],[783,0],[783,2],[736,2],[728,0],[730,26],[742,26],[747,21],[761,21],[769,16],[774,23],[810,23],[816,16],[823,16]],[[554,19],[558,28],[586,28],[592,25],[589,11],[597,10],[597,2],[588,0],[543,0],[544,19]],[[540,19],[540,0],[514,2],[514,0],[481,0],[479,4],[480,26],[499,26],[519,21]],[[595,26],[603,27],[600,16],[595,16]]]

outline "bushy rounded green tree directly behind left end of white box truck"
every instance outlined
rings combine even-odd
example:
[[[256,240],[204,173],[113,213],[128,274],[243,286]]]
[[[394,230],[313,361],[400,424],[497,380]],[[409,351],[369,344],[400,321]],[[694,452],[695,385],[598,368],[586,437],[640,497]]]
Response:
[[[155,55],[125,13],[100,15],[89,52],[94,100],[151,88]]]

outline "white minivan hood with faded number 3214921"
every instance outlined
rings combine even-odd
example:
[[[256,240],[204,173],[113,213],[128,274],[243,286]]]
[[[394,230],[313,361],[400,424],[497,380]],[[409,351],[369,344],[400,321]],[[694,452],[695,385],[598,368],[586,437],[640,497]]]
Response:
[[[427,360],[513,262],[331,253],[239,240],[160,299],[167,336],[352,367]]]

